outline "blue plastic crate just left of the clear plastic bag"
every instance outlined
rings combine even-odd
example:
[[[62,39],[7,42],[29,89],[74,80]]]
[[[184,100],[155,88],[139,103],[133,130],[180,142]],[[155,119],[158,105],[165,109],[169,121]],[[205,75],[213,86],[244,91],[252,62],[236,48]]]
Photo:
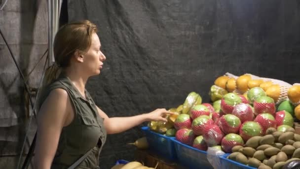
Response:
[[[188,169],[213,169],[207,160],[206,151],[183,144],[177,141],[175,137],[172,138],[172,141],[174,142],[179,164],[188,167]]]

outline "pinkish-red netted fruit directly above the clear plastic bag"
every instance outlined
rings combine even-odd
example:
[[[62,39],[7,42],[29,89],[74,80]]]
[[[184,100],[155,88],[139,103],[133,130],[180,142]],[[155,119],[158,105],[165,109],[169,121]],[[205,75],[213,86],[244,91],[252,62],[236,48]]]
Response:
[[[208,146],[215,146],[221,143],[224,133],[217,125],[206,125],[203,138]]]

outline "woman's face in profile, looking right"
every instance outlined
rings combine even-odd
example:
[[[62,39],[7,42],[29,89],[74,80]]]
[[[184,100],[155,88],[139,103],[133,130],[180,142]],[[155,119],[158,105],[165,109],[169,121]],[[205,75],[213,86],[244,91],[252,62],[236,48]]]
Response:
[[[101,43],[96,33],[92,34],[91,46],[83,56],[83,64],[86,73],[90,76],[99,75],[106,57],[101,52]]]

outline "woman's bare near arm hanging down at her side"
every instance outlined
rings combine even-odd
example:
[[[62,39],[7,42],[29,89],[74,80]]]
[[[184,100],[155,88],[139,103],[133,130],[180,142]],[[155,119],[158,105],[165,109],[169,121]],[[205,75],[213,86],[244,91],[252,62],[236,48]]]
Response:
[[[66,90],[58,88],[50,92],[38,113],[37,144],[34,168],[50,169],[57,150],[61,130],[70,116],[71,102]],[[72,107],[71,107],[72,109]],[[74,115],[71,114],[71,116]]]

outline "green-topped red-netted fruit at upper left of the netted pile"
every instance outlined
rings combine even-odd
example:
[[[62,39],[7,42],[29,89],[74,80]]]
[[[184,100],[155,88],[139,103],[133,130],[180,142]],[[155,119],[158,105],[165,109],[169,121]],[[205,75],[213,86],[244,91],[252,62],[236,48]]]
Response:
[[[242,102],[242,99],[234,93],[227,93],[221,100],[221,110],[225,114],[232,113],[233,107]]]

